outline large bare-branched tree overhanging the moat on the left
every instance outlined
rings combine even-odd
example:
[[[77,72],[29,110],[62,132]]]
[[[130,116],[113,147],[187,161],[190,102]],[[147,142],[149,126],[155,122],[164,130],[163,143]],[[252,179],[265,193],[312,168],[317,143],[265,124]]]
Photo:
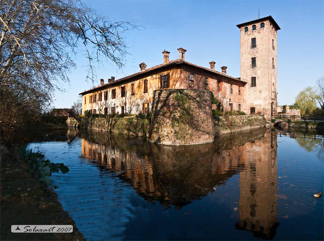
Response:
[[[133,29],[79,0],[0,0],[1,137],[39,116],[69,81],[75,54],[87,58],[85,78],[92,81],[102,58],[121,68]]]

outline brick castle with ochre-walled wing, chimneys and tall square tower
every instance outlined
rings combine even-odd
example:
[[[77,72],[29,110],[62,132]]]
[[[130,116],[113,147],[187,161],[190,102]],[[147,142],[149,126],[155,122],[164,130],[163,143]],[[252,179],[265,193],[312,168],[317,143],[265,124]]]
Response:
[[[178,48],[179,59],[169,60],[164,50],[163,64],[108,83],[100,80],[98,87],[80,93],[82,110],[97,114],[148,113],[152,108],[153,91],[158,89],[210,90],[219,101],[213,109],[243,111],[246,114],[277,113],[277,30],[271,16],[238,24],[240,29],[240,78],[185,61],[186,49]]]

